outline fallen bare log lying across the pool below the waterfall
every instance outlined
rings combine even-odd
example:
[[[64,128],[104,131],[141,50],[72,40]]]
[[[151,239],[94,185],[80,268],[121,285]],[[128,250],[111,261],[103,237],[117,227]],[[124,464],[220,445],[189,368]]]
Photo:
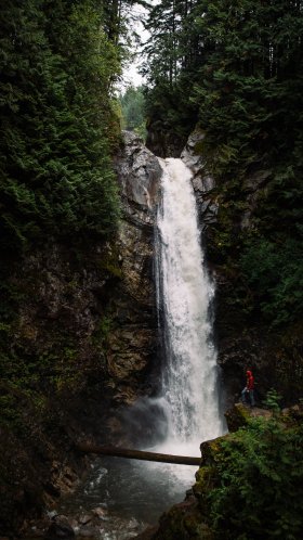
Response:
[[[201,462],[201,458],[190,458],[188,455],[172,455],[167,453],[146,452],[145,450],[130,450],[127,448],[119,448],[119,447],[98,447],[88,442],[78,442],[76,448],[84,453],[113,455],[115,458],[127,458],[129,460],[174,463],[176,465],[200,465]]]

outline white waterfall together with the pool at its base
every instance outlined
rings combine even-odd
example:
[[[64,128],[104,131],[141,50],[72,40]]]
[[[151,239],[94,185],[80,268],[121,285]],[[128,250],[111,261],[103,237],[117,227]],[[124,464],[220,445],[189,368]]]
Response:
[[[199,457],[200,443],[222,435],[225,428],[209,319],[214,291],[203,267],[190,172],[180,159],[160,163],[162,202],[158,211],[156,266],[166,349],[162,391],[159,398],[139,400],[127,425],[129,432],[134,430],[140,437],[146,432],[153,435],[146,439],[148,450],[156,437],[163,438],[168,432],[166,441],[154,446],[154,451]],[[118,519],[127,519],[124,529],[127,532],[129,527],[132,536],[130,524],[134,519],[146,525],[156,523],[164,509],[184,499],[186,489],[195,481],[196,470],[103,458],[102,467],[96,464],[84,491],[76,492],[70,503],[88,512],[100,501],[106,502]],[[65,514],[66,507],[62,510]],[[119,520],[117,531],[111,518],[108,527],[108,532],[104,532],[108,540],[120,538]]]

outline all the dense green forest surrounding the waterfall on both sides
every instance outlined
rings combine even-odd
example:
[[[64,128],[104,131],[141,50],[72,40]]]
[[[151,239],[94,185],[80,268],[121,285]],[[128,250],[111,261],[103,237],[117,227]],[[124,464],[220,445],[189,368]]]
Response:
[[[146,83],[118,99],[135,4],[148,13]],[[302,396],[302,0],[1,3],[0,536],[32,509],[41,515],[43,493],[58,497],[48,474],[56,460],[79,465],[75,417],[89,423],[114,391],[107,307],[121,279],[121,128],[147,130],[162,156],[202,133],[195,152],[215,180],[206,244],[228,284],[223,309],[237,311],[236,332],[256,329],[280,348],[282,402]],[[85,320],[81,295],[92,290]],[[279,399],[267,398],[269,422],[248,421],[215,443],[197,476],[195,524],[173,516],[155,539],[300,538],[302,407],[281,413]]]

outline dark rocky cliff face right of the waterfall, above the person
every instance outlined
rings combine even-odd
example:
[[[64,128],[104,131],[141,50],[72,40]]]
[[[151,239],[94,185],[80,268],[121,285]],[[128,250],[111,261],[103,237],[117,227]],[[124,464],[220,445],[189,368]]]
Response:
[[[241,188],[241,203],[237,205],[229,191],[216,185],[209,176],[202,156],[203,138],[202,131],[193,132],[182,159],[194,172],[203,241],[216,282],[214,329],[226,404],[230,407],[239,398],[248,368],[254,371],[259,402],[274,387],[286,403],[292,403],[301,396],[301,325],[271,329],[258,311],[246,310],[242,297],[249,294],[248,286],[237,271],[240,247],[228,246],[230,235],[236,239],[253,231],[255,211],[272,171],[262,169],[248,175]]]

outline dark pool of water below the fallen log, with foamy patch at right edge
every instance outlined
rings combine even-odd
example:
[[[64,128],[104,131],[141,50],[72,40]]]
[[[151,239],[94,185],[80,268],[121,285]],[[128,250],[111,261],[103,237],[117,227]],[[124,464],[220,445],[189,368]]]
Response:
[[[73,516],[103,506],[108,510],[100,536],[106,540],[132,538],[185,498],[195,483],[196,466],[100,458],[84,483],[66,498],[58,512]]]

